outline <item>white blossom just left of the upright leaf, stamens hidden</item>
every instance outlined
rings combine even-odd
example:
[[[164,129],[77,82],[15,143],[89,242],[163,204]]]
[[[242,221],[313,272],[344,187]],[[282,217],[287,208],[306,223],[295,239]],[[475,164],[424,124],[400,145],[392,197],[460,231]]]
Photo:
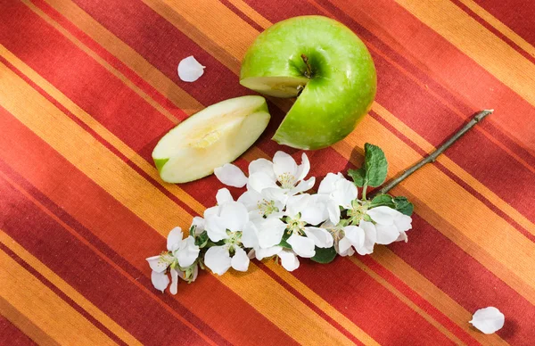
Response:
[[[340,222],[340,207],[350,209],[351,202],[357,199],[357,186],[342,176],[342,173],[328,173],[319,184],[317,194],[327,196],[325,201],[330,221]]]

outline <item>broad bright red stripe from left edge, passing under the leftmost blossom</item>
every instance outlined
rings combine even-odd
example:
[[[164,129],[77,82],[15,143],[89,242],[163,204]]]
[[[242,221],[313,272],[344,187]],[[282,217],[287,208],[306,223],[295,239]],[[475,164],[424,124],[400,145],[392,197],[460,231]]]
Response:
[[[127,270],[130,276],[143,279],[145,287],[154,292],[148,277],[150,269],[144,258],[161,252],[162,247],[165,246],[161,235],[154,232],[144,221],[111,198],[102,188],[95,185],[92,180],[74,168],[69,161],[59,156],[57,152],[54,152],[40,138],[30,133],[27,128],[23,128],[16,120],[4,116],[0,117],[0,122],[5,125],[3,128],[10,129],[7,133],[4,132],[2,139],[7,143],[0,142],[0,146],[4,146],[4,150],[0,152],[2,152],[4,160],[12,166],[12,169],[24,172],[24,177],[29,180],[30,184],[35,185],[41,193],[49,196],[55,203],[61,202],[62,210],[76,218],[76,224],[71,225],[71,227],[84,237],[86,234],[92,233],[93,237],[98,237],[100,242],[107,244],[111,251],[115,252],[104,253],[113,262],[118,263],[121,268]],[[20,161],[18,160],[20,157],[25,157],[27,160]],[[45,180],[42,177],[43,171],[49,172]],[[64,171],[69,171],[68,180],[63,178],[62,172]],[[35,190],[33,194],[35,194]],[[106,209],[102,210],[102,206],[106,206]],[[58,217],[65,218],[65,215],[60,214]],[[95,215],[100,217],[95,218]],[[69,217],[69,219],[71,218]],[[65,222],[72,223],[69,219]],[[80,227],[78,222],[84,227]],[[85,227],[89,230],[84,231]],[[92,237],[88,238],[92,242]],[[100,250],[101,244],[95,243],[95,246]],[[132,256],[133,253],[144,254],[144,256]],[[46,255],[45,252],[44,255]],[[125,262],[120,262],[121,259],[123,259],[122,261],[128,260],[128,266],[124,264]],[[216,333],[210,331],[210,327],[193,317],[191,312],[185,311],[181,304],[184,304],[187,309],[193,310],[207,323],[217,321],[219,330],[223,328],[229,335],[236,338],[232,342],[257,340],[259,335],[254,333],[254,328],[248,328],[249,325],[269,331],[269,334],[273,335],[273,340],[290,342],[284,332],[260,315],[257,310],[251,308],[249,304],[226,288],[214,276],[202,275],[198,280],[200,282],[196,284],[181,284],[180,295],[173,297],[165,294],[161,295],[161,299],[188,320],[193,318],[193,320],[199,321],[196,326],[203,333],[209,335],[211,339],[218,340],[210,335]],[[136,295],[129,295],[129,297],[132,296]],[[178,303],[178,299],[181,303]],[[234,316],[235,310],[242,313],[239,316]],[[217,314],[216,311],[218,311]],[[242,328],[244,329],[242,330]]]

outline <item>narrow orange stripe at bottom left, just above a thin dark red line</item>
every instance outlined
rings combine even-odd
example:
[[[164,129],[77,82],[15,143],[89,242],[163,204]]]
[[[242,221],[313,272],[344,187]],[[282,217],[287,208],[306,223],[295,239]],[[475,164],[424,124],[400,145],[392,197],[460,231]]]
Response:
[[[6,235],[4,231],[0,229],[0,243],[3,243],[9,249],[11,249],[17,256],[28,263],[32,268],[36,269],[39,274],[45,276],[48,281],[59,288],[70,299],[75,301],[82,309],[85,309],[87,313],[95,317],[97,321],[102,323],[108,328],[111,333],[119,336],[119,338],[128,343],[129,345],[141,345],[134,336],[129,334],[120,325],[115,323],[113,319],[108,317],[103,311],[95,307],[91,301],[87,301],[86,298],[78,293],[74,288],[62,280],[60,276],[57,276],[50,268],[47,268],[40,260],[37,260],[28,251],[26,251],[19,243],[16,243],[9,235]]]

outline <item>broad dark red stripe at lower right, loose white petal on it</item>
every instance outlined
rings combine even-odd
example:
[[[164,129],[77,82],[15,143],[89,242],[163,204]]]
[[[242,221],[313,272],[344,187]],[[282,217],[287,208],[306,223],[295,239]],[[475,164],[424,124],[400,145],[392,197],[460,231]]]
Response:
[[[408,243],[390,246],[401,259],[468,311],[488,306],[500,309],[506,325],[498,334],[507,342],[527,345],[535,340],[535,306],[518,292],[418,215],[413,216],[408,237]]]

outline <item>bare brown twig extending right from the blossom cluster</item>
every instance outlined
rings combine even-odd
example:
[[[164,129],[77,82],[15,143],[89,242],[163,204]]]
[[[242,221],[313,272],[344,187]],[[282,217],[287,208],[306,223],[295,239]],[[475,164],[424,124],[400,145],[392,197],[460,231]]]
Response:
[[[388,193],[394,186],[398,185],[403,180],[405,180],[407,177],[409,177],[411,174],[416,172],[417,169],[421,169],[422,167],[424,167],[425,164],[427,164],[429,162],[436,161],[437,157],[439,157],[439,155],[442,152],[446,151],[446,149],[448,149],[451,146],[451,144],[454,144],[457,141],[457,139],[459,139],[460,137],[465,135],[465,133],[468,132],[468,130],[473,128],[475,126],[475,124],[480,122],[482,119],[485,119],[486,116],[488,116],[489,114],[492,114],[493,111],[494,110],[478,111],[475,114],[475,116],[473,117],[473,119],[471,119],[468,123],[466,123],[466,125],[463,128],[458,130],[455,135],[449,137],[449,140],[447,140],[446,143],[440,145],[440,147],[437,150],[435,150],[434,152],[432,152],[428,156],[424,157],[422,160],[416,162],[416,164],[414,166],[412,166],[411,168],[409,168],[406,171],[404,171],[403,174],[401,174],[399,177],[396,177],[396,178],[392,179],[387,185],[384,185],[383,188],[381,188],[374,195]]]

